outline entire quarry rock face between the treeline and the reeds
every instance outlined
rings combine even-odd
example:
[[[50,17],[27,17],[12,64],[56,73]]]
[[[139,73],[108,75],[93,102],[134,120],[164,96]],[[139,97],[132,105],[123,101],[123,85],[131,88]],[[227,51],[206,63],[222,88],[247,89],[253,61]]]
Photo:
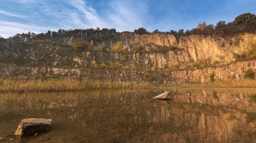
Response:
[[[76,38],[87,42],[95,39],[94,45],[74,52],[71,45]],[[233,54],[246,52],[250,43],[256,43],[255,33],[234,37],[191,35],[177,40],[168,33],[116,32],[106,35],[79,32],[50,41],[32,45],[0,40],[0,77],[57,76],[124,82],[206,83],[212,73],[216,80],[241,79],[247,69],[254,72],[256,69],[255,60],[235,62],[233,57]],[[113,52],[111,49],[118,42],[122,51]],[[143,52],[132,53],[140,46]],[[93,68],[92,62],[96,64]],[[208,66],[196,67],[200,63]],[[156,70],[150,71],[152,68]]]

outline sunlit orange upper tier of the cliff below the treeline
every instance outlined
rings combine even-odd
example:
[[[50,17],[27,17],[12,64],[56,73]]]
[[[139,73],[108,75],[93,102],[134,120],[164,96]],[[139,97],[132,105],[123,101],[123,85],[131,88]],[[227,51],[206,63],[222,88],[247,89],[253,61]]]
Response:
[[[86,33],[85,33],[86,35]],[[67,44],[72,45],[73,39],[81,37],[82,40],[89,40],[91,37],[102,39],[101,34],[84,36],[79,33],[67,40]],[[191,65],[196,61],[208,61],[209,63],[218,61],[221,63],[230,63],[234,61],[233,54],[241,54],[249,49],[249,44],[256,41],[256,34],[244,33],[235,37],[212,37],[191,35],[180,37],[177,43],[176,37],[172,34],[153,33],[138,35],[135,33],[118,33],[112,38],[96,43],[93,49],[100,49],[105,45],[108,51],[113,48],[117,42],[121,43],[121,48],[131,51],[136,46],[143,46],[146,52],[143,54],[126,54],[130,64],[139,62],[143,67],[156,66],[157,68],[164,68],[172,66],[175,62],[180,65]],[[64,42],[65,43],[65,42]],[[167,47],[177,47],[177,50],[164,50]],[[98,63],[102,62],[102,57],[105,60],[121,61],[124,54],[107,54],[97,52],[90,54],[89,59],[93,59]],[[106,59],[107,57],[107,59]],[[81,60],[88,60],[86,57],[80,57]],[[86,65],[86,64],[85,64]],[[131,66],[131,65],[129,65]]]

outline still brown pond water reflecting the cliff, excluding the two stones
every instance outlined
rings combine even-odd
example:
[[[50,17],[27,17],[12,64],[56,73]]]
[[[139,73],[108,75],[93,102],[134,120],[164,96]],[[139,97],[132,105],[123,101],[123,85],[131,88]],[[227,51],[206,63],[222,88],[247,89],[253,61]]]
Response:
[[[0,142],[256,142],[256,89],[163,89],[0,94]],[[53,128],[15,138],[20,120]]]

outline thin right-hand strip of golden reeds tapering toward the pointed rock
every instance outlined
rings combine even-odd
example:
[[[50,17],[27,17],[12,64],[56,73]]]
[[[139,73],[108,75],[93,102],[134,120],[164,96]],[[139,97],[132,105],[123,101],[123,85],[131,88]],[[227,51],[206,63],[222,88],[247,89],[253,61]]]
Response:
[[[178,88],[256,88],[256,80],[227,80],[213,83],[174,83],[171,86]]]

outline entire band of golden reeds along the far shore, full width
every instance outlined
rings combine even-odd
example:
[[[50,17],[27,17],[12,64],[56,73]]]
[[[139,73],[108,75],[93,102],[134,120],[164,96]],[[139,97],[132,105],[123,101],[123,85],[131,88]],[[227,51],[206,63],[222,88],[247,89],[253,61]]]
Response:
[[[83,91],[87,89],[145,89],[145,88],[256,88],[256,80],[228,80],[213,83],[122,83],[78,79],[5,79],[0,78],[0,92]]]

